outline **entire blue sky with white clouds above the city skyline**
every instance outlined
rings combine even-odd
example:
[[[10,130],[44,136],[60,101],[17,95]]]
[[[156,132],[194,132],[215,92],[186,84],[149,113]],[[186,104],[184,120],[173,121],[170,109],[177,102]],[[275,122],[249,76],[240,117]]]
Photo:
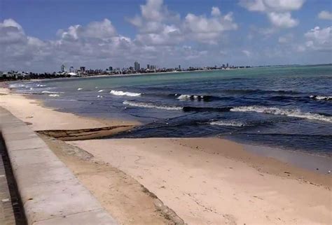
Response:
[[[0,0],[0,71],[332,62],[331,0]]]

